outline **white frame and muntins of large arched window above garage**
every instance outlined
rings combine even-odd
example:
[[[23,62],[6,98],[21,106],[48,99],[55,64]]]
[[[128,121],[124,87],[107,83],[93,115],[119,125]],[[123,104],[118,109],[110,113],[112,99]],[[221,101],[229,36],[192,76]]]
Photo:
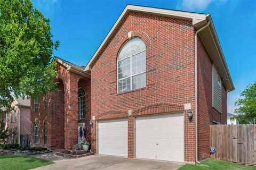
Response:
[[[129,91],[133,91],[133,90],[138,90],[138,89],[142,89],[142,88],[146,88],[146,87],[147,87],[147,53],[146,53],[147,48],[145,48],[145,50],[142,50],[141,52],[138,52],[138,53],[135,53],[135,54],[129,56],[129,57],[130,57],[130,76],[129,76],[129,77],[130,77],[130,90],[129,90],[129,91],[123,91],[123,92],[119,92],[119,91],[118,91],[118,81],[129,78],[129,77],[125,77],[125,78],[122,78],[122,79],[118,79],[118,62],[121,62],[121,61],[126,60],[127,58],[129,58],[129,57],[126,57],[126,58],[123,58],[122,60],[118,60],[119,54],[120,54],[120,52],[122,51],[122,48],[124,47],[124,45],[125,45],[126,43],[128,43],[130,40],[134,39],[134,38],[139,38],[139,39],[141,39],[140,37],[132,37],[132,38],[130,38],[129,40],[125,41],[125,43],[122,45],[122,47],[120,48],[120,50],[119,50],[119,52],[118,52],[118,55],[117,55],[117,60],[116,60],[116,68],[117,68],[117,71],[116,71],[116,77],[117,77],[116,86],[117,86],[117,88],[116,88],[116,90],[117,90],[117,94],[123,94],[123,93],[125,93],[125,92],[129,92]],[[143,39],[141,39],[141,41],[145,44],[145,42],[143,41]],[[145,44],[145,46],[146,46],[146,44]],[[145,69],[144,72],[141,72],[141,73],[137,73],[137,74],[132,75],[132,56],[137,55],[137,54],[140,54],[140,53],[143,53],[143,52],[146,53],[146,54],[145,54],[145,55],[146,55],[146,56],[145,56],[145,58],[146,58],[146,69]],[[140,75],[140,74],[143,74],[143,73],[146,73],[146,87],[141,87],[141,88],[138,88],[138,89],[132,89],[132,77],[137,76],[137,75]]]

